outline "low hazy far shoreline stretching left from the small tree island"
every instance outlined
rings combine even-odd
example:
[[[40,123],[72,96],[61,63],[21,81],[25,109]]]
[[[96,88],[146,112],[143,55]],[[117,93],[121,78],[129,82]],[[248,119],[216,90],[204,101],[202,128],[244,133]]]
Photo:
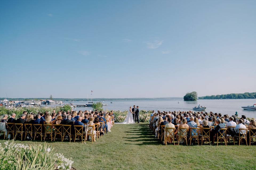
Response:
[[[0,98],[3,100],[5,98]],[[118,100],[182,100],[182,97],[157,97],[157,98],[94,98],[93,101],[118,101]],[[8,100],[49,100],[49,98],[8,98]],[[54,98],[56,101],[87,101],[87,98]],[[90,100],[90,99],[89,99]]]

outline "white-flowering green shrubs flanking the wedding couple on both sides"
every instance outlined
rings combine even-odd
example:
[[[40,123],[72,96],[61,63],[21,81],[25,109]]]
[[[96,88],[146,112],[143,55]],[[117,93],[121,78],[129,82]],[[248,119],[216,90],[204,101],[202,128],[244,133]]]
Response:
[[[123,122],[126,118],[126,115],[128,111],[113,111],[115,114],[115,122]],[[150,119],[150,114],[152,111],[145,111],[145,110],[140,110],[139,111],[139,121],[140,122],[148,122]]]

